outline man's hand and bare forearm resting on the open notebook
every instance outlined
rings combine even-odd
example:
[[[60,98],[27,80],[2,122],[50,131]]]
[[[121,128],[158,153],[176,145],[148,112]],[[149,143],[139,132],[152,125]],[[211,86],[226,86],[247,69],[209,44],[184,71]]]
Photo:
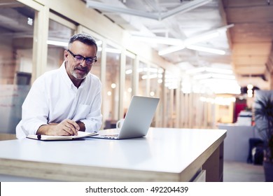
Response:
[[[65,119],[61,123],[49,123],[38,128],[36,134],[78,135],[80,126],[73,120]]]

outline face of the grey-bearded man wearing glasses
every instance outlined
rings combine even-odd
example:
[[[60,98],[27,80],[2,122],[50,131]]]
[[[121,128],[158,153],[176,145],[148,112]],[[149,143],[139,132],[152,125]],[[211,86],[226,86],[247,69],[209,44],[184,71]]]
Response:
[[[86,64],[84,59],[78,62],[73,55],[80,55],[83,57],[95,57],[97,54],[96,47],[94,45],[86,45],[80,41],[74,41],[69,47],[69,51],[64,51],[64,58],[66,60],[66,72],[72,82],[80,83],[91,70],[92,65]]]

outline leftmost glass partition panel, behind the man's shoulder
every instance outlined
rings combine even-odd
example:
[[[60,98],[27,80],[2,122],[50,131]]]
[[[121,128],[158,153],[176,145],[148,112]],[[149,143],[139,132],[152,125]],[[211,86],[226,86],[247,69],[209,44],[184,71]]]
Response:
[[[15,134],[29,92],[35,10],[18,1],[0,6],[0,133]]]

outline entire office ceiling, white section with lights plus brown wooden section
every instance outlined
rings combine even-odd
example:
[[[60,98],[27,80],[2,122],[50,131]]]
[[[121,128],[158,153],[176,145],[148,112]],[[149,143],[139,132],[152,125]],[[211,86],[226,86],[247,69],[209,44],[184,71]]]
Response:
[[[260,89],[270,88],[273,1],[85,1],[87,7],[129,31],[137,41],[149,43],[158,52],[173,49],[162,57],[182,71],[232,69],[241,87],[252,83]],[[216,32],[217,36],[211,36]],[[202,52],[197,47],[225,54]]]

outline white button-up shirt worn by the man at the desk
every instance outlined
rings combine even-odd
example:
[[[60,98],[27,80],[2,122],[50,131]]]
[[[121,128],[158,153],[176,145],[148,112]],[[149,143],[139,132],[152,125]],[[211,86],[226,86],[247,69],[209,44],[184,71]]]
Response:
[[[66,73],[64,63],[59,69],[37,78],[22,104],[22,120],[16,137],[36,134],[41,125],[60,123],[64,119],[80,120],[85,132],[97,132],[102,126],[102,83],[92,73],[75,87]]]

